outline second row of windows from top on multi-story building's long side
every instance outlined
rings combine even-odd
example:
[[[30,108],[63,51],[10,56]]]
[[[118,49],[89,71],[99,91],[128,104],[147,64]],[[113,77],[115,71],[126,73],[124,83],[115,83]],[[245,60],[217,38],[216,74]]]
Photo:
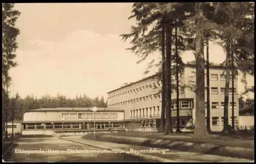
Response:
[[[143,97],[127,100],[127,101],[122,101],[122,102],[109,104],[109,107],[122,106],[122,105],[126,106],[126,105],[130,105],[130,104],[134,104],[134,103],[140,103],[140,102],[145,102],[145,101],[153,101],[153,100],[157,100],[157,99],[161,99],[161,94],[160,93],[154,94],[154,95],[143,96]]]

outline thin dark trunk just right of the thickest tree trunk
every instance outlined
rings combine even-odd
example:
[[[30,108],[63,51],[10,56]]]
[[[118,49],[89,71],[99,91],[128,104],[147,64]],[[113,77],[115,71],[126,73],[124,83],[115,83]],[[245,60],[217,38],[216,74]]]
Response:
[[[209,40],[206,40],[206,83],[207,83],[207,113],[206,113],[206,129],[208,132],[210,130],[210,66],[209,66]]]

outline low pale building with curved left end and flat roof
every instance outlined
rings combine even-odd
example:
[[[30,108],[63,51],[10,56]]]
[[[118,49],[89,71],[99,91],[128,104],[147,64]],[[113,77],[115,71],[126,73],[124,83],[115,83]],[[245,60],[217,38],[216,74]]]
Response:
[[[59,132],[80,132],[122,129],[124,111],[120,108],[57,107],[27,111],[22,121],[22,134],[54,135]]]

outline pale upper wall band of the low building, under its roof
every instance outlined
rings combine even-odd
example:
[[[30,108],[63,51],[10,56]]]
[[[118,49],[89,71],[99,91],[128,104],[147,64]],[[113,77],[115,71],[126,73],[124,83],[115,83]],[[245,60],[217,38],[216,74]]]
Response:
[[[78,118],[79,114],[90,114],[90,117],[82,117]],[[26,112],[24,114],[24,121],[25,122],[40,122],[40,121],[63,121],[62,116],[67,116],[69,114],[76,114],[73,118],[65,118],[65,121],[90,121],[94,120],[93,113],[92,112]],[[116,117],[102,117],[102,114],[116,114]],[[98,116],[100,115],[100,116]],[[89,115],[83,115],[83,116],[89,116]],[[111,120],[123,120],[124,114],[123,112],[96,112],[95,114],[95,120],[96,121],[111,121]]]

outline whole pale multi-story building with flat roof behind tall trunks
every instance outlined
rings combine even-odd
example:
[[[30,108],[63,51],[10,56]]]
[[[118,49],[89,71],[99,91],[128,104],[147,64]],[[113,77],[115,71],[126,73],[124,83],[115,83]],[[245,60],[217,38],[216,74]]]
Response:
[[[195,122],[196,94],[193,91],[196,81],[196,67],[186,64],[184,72],[180,74],[179,83],[179,121],[185,127],[188,122]],[[206,76],[206,70],[205,70]],[[230,75],[231,78],[231,75]],[[175,78],[173,78],[175,79]],[[176,84],[175,80],[172,80]],[[108,107],[118,107],[124,110],[124,126],[129,124],[142,126],[143,129],[157,128],[160,126],[161,117],[161,80],[156,75],[146,77],[134,83],[126,84],[118,89],[108,92]],[[206,78],[205,78],[206,86]],[[218,65],[210,66],[210,124],[212,131],[223,129],[225,68]],[[234,80],[234,117],[239,116],[237,77]],[[231,80],[229,85],[228,116],[231,120],[232,90]],[[205,101],[206,101],[205,91]],[[206,103],[205,103],[206,104]],[[176,91],[172,90],[172,120],[176,126],[177,106]],[[205,107],[206,114],[206,107]],[[135,124],[137,123],[137,124]],[[229,122],[229,124],[231,121]]]

